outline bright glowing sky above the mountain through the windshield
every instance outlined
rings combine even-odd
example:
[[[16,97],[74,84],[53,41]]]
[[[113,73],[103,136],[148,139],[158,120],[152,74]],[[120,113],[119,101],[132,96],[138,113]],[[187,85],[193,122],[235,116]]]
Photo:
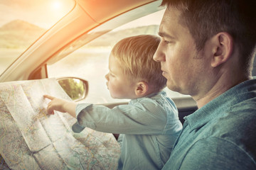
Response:
[[[0,0],[0,26],[20,19],[50,28],[74,5],[73,0]]]

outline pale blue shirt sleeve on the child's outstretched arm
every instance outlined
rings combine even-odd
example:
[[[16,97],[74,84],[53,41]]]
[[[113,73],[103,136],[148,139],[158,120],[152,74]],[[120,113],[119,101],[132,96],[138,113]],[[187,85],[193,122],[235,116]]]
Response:
[[[80,103],[76,108],[78,123],[74,132],[88,127],[101,132],[157,135],[164,132],[166,111],[151,98],[120,105],[112,109],[101,105]]]

